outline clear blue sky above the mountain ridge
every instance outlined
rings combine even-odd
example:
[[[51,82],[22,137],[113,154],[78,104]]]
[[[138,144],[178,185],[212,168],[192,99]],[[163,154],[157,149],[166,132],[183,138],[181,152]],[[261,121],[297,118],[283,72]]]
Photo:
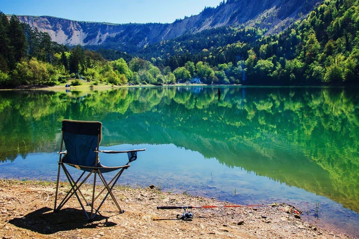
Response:
[[[0,11],[15,15],[48,15],[109,23],[172,23],[199,14],[221,0],[0,0]]]

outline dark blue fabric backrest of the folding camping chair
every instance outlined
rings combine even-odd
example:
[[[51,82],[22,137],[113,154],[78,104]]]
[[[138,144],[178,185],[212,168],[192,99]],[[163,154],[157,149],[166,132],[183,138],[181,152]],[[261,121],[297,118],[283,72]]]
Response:
[[[62,120],[62,143],[66,155],[63,163],[84,167],[99,167],[98,150],[101,142],[102,123],[98,121]]]

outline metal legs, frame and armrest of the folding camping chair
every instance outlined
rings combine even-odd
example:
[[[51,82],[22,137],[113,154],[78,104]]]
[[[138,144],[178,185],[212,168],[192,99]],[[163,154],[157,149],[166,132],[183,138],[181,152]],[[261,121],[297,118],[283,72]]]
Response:
[[[94,164],[96,167],[89,166],[89,165],[77,165],[77,164],[73,164],[73,163],[69,163],[69,162],[64,162],[64,159],[67,155],[67,150],[65,150],[64,152],[62,152],[63,149],[63,145],[65,143],[65,147],[66,147],[66,142],[64,142],[64,133],[66,133],[66,127],[64,127],[65,125],[71,125],[76,127],[76,125],[80,125],[82,123],[85,123],[87,125],[91,125],[94,124],[94,126],[99,127],[99,129],[93,131],[93,130],[89,130],[90,131],[90,135],[94,135],[97,134],[97,145],[96,148],[93,150],[93,152],[95,153],[95,157],[94,157]],[[65,132],[64,132],[65,130]],[[81,130],[80,130],[81,131]],[[95,133],[94,133],[95,132]],[[134,149],[134,150],[125,150],[125,151],[113,151],[113,150],[99,150],[99,145],[101,143],[101,139],[102,139],[102,123],[99,121],[79,121],[79,120],[63,120],[62,121],[62,129],[61,129],[61,146],[60,146],[60,152],[59,153],[59,167],[57,170],[57,181],[56,181],[56,193],[55,193],[55,205],[54,205],[54,212],[58,212],[62,206],[64,206],[66,204],[66,202],[75,194],[77,200],[80,203],[80,206],[82,208],[82,210],[85,213],[85,216],[88,220],[93,220],[95,218],[95,216],[97,215],[99,209],[101,208],[101,206],[103,205],[104,201],[107,199],[108,195],[111,196],[113,202],[115,203],[118,211],[120,213],[123,213],[124,211],[121,210],[120,205],[118,205],[118,202],[115,198],[115,196],[112,193],[112,188],[115,186],[116,182],[118,181],[118,179],[120,178],[120,176],[122,175],[123,171],[127,168],[129,168],[130,162],[135,161],[137,159],[137,152],[139,151],[144,151],[146,149]],[[71,132],[73,133],[73,132]],[[76,134],[76,133],[75,133]],[[103,166],[100,161],[99,161],[99,153],[110,153],[110,154],[117,154],[117,153],[127,153],[127,156],[129,158],[129,161],[123,165],[123,166],[118,166],[118,167],[106,167]],[[74,178],[71,176],[71,174],[69,173],[69,171],[67,170],[67,168],[65,167],[65,164],[75,167],[77,169],[83,170],[83,172],[81,173],[80,177],[75,181]],[[60,204],[56,207],[57,205],[57,194],[58,194],[58,190],[59,190],[59,179],[60,179],[60,168],[63,169],[65,176],[67,178],[67,180],[70,183],[71,189],[67,192],[67,194],[65,195],[65,197],[62,199],[62,201],[60,202]],[[110,182],[106,182],[103,173],[104,172],[111,172],[111,171],[116,171],[120,169],[120,171],[117,172],[117,174],[112,178],[112,180]],[[101,171],[104,172],[101,172]],[[85,176],[85,178],[80,182],[81,178],[85,175],[86,172],[89,172],[87,174],[87,176]],[[83,195],[83,193],[80,190],[80,187],[88,180],[88,178],[94,174],[94,178],[93,178],[93,189],[92,189],[92,200],[91,202],[89,202],[88,200],[85,199],[85,196]],[[99,176],[99,178],[101,179],[104,188],[102,189],[101,192],[98,193],[97,196],[95,196],[95,186],[96,186],[96,177],[97,175]],[[80,182],[80,183],[79,183]],[[97,209],[94,210],[94,202],[98,199],[98,197],[107,190],[106,195],[104,196],[104,198],[102,199],[101,203],[99,204],[99,206],[97,207]],[[88,213],[85,210],[85,207],[83,205],[83,203],[81,202],[80,197],[85,201],[85,205],[86,206],[91,206],[91,211],[90,213]]]

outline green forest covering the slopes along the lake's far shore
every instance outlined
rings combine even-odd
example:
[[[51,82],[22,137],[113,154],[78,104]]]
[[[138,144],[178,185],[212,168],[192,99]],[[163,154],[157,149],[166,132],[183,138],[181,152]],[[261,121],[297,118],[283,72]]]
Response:
[[[270,17],[270,16],[267,16]],[[0,87],[93,85],[358,85],[359,0],[325,0],[278,34],[228,26],[164,40],[131,54],[63,46],[0,12]]]

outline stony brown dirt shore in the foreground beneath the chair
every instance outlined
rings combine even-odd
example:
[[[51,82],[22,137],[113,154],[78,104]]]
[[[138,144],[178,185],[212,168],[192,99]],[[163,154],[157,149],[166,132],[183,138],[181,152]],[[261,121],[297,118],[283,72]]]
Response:
[[[113,201],[107,199],[101,215],[89,222],[76,197],[54,213],[55,188],[55,183],[0,180],[1,238],[350,238],[304,222],[295,212],[300,209],[284,204],[192,209],[194,218],[177,219],[183,210],[156,207],[231,204],[156,188],[125,186],[113,189],[125,212],[119,214]],[[58,198],[62,199],[69,188],[61,183]],[[97,191],[101,189],[97,187]],[[90,190],[85,185],[81,191],[90,198]]]

